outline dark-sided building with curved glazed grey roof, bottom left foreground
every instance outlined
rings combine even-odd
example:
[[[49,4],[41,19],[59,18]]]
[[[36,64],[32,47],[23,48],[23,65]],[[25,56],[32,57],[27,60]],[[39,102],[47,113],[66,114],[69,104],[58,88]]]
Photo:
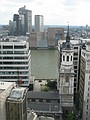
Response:
[[[12,89],[6,99],[6,120],[27,120],[27,89],[17,87]]]

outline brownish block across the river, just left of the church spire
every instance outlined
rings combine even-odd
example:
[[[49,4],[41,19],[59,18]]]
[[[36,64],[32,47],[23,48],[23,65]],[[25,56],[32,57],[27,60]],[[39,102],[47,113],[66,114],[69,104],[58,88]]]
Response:
[[[64,29],[63,28],[48,28],[48,47],[58,46],[58,40],[64,40]]]

